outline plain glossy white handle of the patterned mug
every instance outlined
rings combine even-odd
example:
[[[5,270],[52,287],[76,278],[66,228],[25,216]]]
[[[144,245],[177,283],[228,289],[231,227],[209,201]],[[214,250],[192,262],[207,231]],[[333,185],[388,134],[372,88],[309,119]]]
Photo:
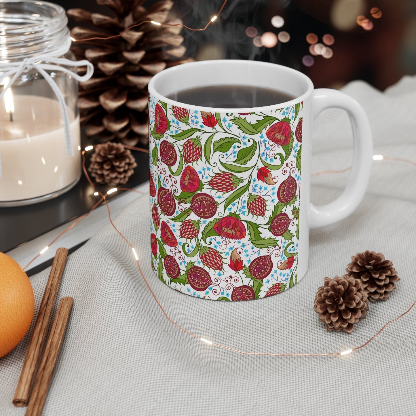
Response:
[[[331,225],[352,214],[364,197],[370,178],[373,141],[364,109],[352,97],[336,89],[315,89],[312,94],[313,119],[331,107],[346,110],[352,124],[354,156],[351,174],[344,192],[335,201],[322,206],[310,204],[310,228]]]

